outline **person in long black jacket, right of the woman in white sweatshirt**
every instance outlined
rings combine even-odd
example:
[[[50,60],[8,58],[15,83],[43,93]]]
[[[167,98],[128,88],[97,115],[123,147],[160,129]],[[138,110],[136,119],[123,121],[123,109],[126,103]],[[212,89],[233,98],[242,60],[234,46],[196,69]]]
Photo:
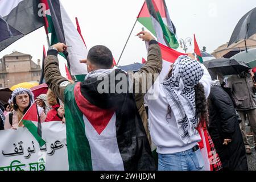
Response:
[[[209,102],[209,134],[212,137],[224,170],[247,171],[242,133],[233,102],[212,76]]]

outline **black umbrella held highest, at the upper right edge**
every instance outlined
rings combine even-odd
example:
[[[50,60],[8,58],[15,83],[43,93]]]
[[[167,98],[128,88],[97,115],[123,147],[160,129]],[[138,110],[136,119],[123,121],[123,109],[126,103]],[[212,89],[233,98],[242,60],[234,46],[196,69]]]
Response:
[[[229,40],[228,47],[239,40],[245,40],[245,47],[247,51],[246,39],[250,38],[250,36],[254,34],[256,34],[256,7],[243,15],[239,20]]]

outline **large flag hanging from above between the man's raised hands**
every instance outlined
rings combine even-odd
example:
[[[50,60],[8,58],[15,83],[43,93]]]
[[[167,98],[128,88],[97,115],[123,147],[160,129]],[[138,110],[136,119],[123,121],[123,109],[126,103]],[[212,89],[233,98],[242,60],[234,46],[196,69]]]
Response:
[[[46,3],[45,12],[48,23],[46,26],[47,30],[51,32],[51,45],[62,42],[70,46],[68,52],[64,53],[64,57],[70,66],[71,75],[85,75],[87,67],[85,64],[80,64],[79,60],[85,59],[88,51],[79,32],[59,0],[42,1]]]

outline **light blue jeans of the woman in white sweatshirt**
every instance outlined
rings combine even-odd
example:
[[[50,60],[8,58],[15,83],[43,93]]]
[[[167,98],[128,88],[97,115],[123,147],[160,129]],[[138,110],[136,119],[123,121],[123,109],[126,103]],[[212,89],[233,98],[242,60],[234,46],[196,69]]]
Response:
[[[158,171],[204,171],[200,149],[192,148],[174,154],[158,154]]]

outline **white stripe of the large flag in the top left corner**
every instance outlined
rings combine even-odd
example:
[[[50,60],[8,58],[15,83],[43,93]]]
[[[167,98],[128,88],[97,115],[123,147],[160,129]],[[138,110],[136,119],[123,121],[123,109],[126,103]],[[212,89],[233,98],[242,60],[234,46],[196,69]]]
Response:
[[[24,0],[0,0],[0,15],[2,17],[9,15],[11,10]]]

